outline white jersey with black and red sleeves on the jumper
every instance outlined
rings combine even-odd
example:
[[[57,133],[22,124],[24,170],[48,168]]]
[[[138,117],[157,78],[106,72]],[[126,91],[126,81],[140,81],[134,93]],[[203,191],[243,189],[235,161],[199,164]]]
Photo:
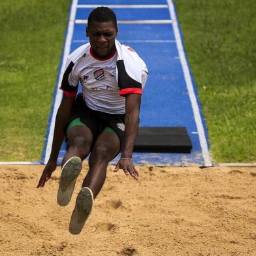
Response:
[[[116,52],[102,59],[93,55],[88,43],[68,57],[61,89],[65,95],[73,97],[80,82],[89,108],[109,114],[124,114],[125,97],[122,96],[141,94],[147,75],[146,64],[129,46],[123,46],[116,40]]]

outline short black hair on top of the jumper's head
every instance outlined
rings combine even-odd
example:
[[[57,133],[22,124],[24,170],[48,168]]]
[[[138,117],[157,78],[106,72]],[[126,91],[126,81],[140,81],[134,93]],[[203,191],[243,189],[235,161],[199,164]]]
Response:
[[[88,22],[87,22],[88,27],[92,21],[113,22],[115,27],[117,27],[118,25],[116,22],[116,14],[112,10],[110,10],[110,8],[108,7],[97,7],[94,10],[92,10],[88,16]]]

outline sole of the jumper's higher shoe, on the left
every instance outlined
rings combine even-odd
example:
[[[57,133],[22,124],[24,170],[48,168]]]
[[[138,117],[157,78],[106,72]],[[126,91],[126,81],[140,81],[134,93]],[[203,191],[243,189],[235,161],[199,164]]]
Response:
[[[82,169],[82,161],[80,157],[71,157],[61,170],[61,176],[59,178],[59,189],[57,191],[57,203],[60,206],[66,206],[69,204],[72,193],[74,191],[74,185]]]

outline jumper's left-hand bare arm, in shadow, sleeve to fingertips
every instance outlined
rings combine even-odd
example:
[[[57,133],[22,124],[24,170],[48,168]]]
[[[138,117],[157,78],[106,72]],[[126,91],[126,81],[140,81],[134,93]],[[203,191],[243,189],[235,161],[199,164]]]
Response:
[[[54,128],[54,138],[52,141],[52,152],[50,158],[44,170],[42,171],[42,176],[40,177],[39,184],[37,188],[44,187],[44,184],[50,179],[52,172],[57,167],[57,157],[59,155],[59,150],[61,144],[65,137],[64,126],[69,120],[72,112],[72,106],[74,103],[74,97],[67,97],[63,95],[59,109],[57,110],[55,128]]]

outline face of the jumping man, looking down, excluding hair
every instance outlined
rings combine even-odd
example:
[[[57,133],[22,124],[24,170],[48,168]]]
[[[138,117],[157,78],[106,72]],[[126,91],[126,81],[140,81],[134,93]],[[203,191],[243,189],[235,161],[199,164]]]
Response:
[[[117,35],[118,27],[113,22],[92,21],[86,27],[86,37],[89,37],[91,48],[99,57],[107,57],[112,53]]]

